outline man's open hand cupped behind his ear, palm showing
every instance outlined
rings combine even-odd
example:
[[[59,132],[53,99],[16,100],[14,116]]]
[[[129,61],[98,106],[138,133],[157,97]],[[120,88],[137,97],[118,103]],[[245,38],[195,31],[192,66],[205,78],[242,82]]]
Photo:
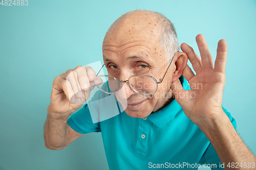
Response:
[[[195,75],[188,65],[183,71],[191,90],[184,90],[179,79],[173,83],[172,89],[186,116],[199,125],[225,114],[222,109],[222,96],[225,86],[227,43],[224,39],[219,41],[214,64],[203,35],[199,34],[196,41],[201,58],[192,47],[186,43],[181,44],[181,50],[187,54],[196,71]]]

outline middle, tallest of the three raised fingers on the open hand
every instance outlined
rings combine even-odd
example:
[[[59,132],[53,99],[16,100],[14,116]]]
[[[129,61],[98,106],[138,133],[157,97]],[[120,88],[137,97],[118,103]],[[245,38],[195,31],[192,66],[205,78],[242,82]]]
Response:
[[[208,44],[205,41],[204,36],[202,34],[198,34],[196,37],[196,41],[202,58],[202,67],[213,69],[214,61],[212,59]]]

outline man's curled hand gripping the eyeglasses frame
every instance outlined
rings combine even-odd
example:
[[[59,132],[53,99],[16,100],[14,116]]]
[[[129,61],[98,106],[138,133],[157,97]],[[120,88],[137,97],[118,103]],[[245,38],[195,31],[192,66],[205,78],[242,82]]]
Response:
[[[90,92],[95,86],[95,77],[96,73],[90,66],[77,66],[56,77],[52,85],[48,113],[70,115],[78,110],[89,98]]]

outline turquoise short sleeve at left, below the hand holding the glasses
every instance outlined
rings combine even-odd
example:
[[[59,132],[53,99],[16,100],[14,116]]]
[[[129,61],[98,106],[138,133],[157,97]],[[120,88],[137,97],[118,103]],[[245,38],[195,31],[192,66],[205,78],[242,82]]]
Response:
[[[100,124],[93,123],[88,104],[73,113],[68,119],[68,124],[74,131],[81,134],[100,132]]]

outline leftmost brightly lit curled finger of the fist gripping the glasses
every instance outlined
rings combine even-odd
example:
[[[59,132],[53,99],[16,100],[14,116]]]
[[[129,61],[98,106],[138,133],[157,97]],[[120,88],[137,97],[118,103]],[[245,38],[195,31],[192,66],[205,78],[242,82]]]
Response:
[[[82,90],[81,90],[80,84],[78,82],[77,72],[74,70],[70,71],[66,80],[70,82],[71,87],[72,87],[73,91],[75,92],[76,98],[82,98],[83,93],[81,92]]]

